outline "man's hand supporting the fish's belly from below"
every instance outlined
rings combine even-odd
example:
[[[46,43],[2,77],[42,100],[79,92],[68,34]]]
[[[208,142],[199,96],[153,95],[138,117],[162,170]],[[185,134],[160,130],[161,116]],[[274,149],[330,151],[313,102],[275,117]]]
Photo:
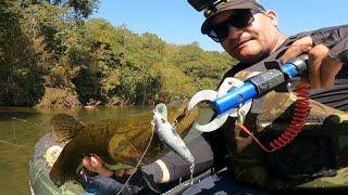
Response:
[[[133,168],[133,169],[121,169],[121,170],[109,170],[105,168],[105,166],[103,165],[103,162],[101,161],[101,159],[96,156],[92,155],[91,157],[85,157],[83,159],[83,165],[92,172],[97,172],[102,177],[111,177],[113,174],[115,174],[116,177],[123,177],[124,174],[130,176],[134,172],[137,171],[137,169]]]

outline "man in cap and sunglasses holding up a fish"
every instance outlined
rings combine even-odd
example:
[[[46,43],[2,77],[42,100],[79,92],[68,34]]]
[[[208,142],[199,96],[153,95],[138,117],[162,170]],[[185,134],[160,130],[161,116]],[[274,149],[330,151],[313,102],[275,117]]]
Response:
[[[311,98],[337,108],[332,110],[325,107],[326,113],[335,113],[338,109],[348,110],[348,68],[345,65],[348,62],[348,26],[324,28],[287,37],[277,28],[278,20],[276,12],[265,10],[254,0],[216,1],[204,10],[204,15],[207,20],[201,28],[202,34],[220,42],[231,56],[239,61],[236,66],[226,73],[225,77],[246,79],[246,74],[265,70],[263,65],[265,61],[281,60],[285,63],[300,54],[307,53],[309,55],[309,75],[306,78],[301,78],[301,82],[310,84],[313,90],[311,91]],[[285,98],[286,101],[290,100],[288,92],[275,92],[274,95],[276,99],[279,96],[282,99]],[[336,101],[332,101],[333,99]],[[251,112],[248,115],[246,126],[249,129],[261,128],[262,131],[264,129],[258,122],[266,118],[264,116],[272,106],[277,108],[283,106],[281,114],[290,109],[289,105],[281,105],[282,103],[270,104],[268,96],[265,100],[259,99],[254,101],[253,104],[260,104],[259,108],[261,108],[259,112]],[[262,105],[270,106],[263,107]],[[315,115],[315,109],[324,107],[323,105],[315,107],[315,105],[311,104],[311,106],[313,106],[311,110],[314,110],[314,114],[311,114],[313,118],[326,117],[326,115]],[[258,106],[254,107],[258,108]],[[281,115],[277,115],[277,117],[281,117]],[[271,119],[268,119],[270,120],[268,122],[274,123],[277,117],[271,117]],[[290,120],[289,117],[285,118],[287,121]],[[322,123],[323,120],[318,122]],[[238,130],[235,127],[235,119],[229,118],[221,129],[211,133],[203,133],[202,136],[188,143],[189,150],[196,158],[196,173],[200,173],[209,168],[220,171],[222,168],[227,167],[227,170],[220,172],[216,177],[209,177],[189,187],[185,192],[186,194],[262,192],[261,190],[246,187],[243,184],[236,184],[236,180],[264,188],[282,188],[285,185],[285,187],[291,188],[315,178],[331,177],[331,170],[334,170],[330,162],[330,159],[332,159],[330,155],[324,155],[325,157],[319,160],[323,162],[312,166],[311,159],[315,160],[313,158],[315,154],[312,156],[303,154],[302,156],[308,155],[311,158],[300,158],[301,162],[303,162],[303,168],[294,168],[291,164],[287,164],[289,160],[284,158],[284,156],[294,154],[296,150],[298,152],[298,148],[302,151],[321,150],[315,143],[326,143],[325,139],[316,140],[309,133],[308,136],[295,139],[293,144],[295,146],[284,148],[279,153],[275,153],[275,155],[265,155],[262,150],[251,143],[249,136],[236,135],[236,131]],[[268,136],[266,134],[265,139],[269,139]],[[330,152],[330,148],[322,151]],[[83,164],[89,170],[98,172],[103,177],[122,177],[135,172],[132,169],[115,172],[110,171],[103,167],[98,157],[86,157]],[[285,169],[282,169],[284,167]],[[315,170],[308,171],[309,167],[315,167]],[[321,171],[324,169],[325,171]],[[166,183],[175,181],[181,177],[187,178],[189,176],[189,165],[173,153],[170,153],[156,162],[142,167],[142,171],[152,176],[156,182]],[[306,177],[307,174],[311,174],[312,178]],[[299,180],[294,182],[294,178],[299,178]],[[112,180],[114,187],[110,187],[110,183],[112,183],[110,182],[111,179],[102,180],[109,180],[109,188],[104,187],[103,190],[107,188],[104,193],[108,190],[108,192],[120,191],[122,186]],[[97,180],[95,182],[98,183]],[[130,190],[126,188],[123,193],[136,193],[137,190],[141,190],[141,187],[135,191],[132,187]]]

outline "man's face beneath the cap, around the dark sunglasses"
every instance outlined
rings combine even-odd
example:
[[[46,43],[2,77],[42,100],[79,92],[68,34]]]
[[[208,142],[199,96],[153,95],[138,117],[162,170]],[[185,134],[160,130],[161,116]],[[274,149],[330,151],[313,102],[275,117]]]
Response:
[[[223,23],[233,12],[223,12],[213,20]],[[278,39],[277,18],[273,11],[253,14],[254,21],[245,27],[228,26],[227,37],[221,46],[233,57],[245,63],[256,63],[269,55],[276,47]]]

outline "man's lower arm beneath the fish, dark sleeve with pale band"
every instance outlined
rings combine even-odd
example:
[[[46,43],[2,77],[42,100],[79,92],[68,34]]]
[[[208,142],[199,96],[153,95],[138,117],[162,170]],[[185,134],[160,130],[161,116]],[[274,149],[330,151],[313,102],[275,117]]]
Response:
[[[195,174],[199,174],[213,165],[213,152],[210,144],[200,135],[187,143],[188,150],[195,157]],[[134,170],[108,170],[101,159],[97,156],[85,157],[83,165],[90,171],[97,172],[103,177],[123,177],[132,174]],[[170,152],[161,159],[141,167],[141,170],[153,177],[156,183],[167,183],[176,181],[179,178],[187,179],[190,176],[190,165],[183,160],[174,152]]]

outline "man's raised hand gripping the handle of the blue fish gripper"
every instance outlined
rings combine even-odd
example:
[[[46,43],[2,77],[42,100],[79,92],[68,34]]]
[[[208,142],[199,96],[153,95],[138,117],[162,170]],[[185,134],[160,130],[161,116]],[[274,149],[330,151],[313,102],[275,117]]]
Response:
[[[335,77],[340,70],[343,63],[333,60],[328,55],[330,49],[323,44],[314,46],[310,36],[295,41],[281,57],[283,63],[288,62],[303,53],[308,53],[308,78],[301,78],[312,89],[331,88],[334,86]]]

